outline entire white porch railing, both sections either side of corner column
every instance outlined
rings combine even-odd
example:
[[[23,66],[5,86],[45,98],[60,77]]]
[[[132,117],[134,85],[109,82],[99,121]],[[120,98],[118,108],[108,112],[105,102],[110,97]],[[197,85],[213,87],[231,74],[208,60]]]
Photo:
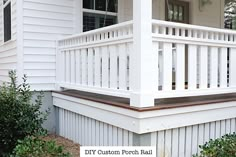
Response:
[[[159,20],[152,28],[156,99],[236,92],[235,31]],[[132,21],[58,44],[59,87],[130,98]]]

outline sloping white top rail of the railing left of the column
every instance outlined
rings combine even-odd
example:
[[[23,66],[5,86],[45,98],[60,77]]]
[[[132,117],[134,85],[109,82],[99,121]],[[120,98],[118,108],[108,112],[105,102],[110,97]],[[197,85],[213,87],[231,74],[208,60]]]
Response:
[[[67,36],[67,37],[62,37],[58,41],[69,40],[69,39],[73,39],[73,38],[93,35],[93,34],[96,34],[96,33],[107,32],[107,31],[111,31],[111,30],[114,30],[114,29],[117,29],[117,28],[120,28],[120,27],[132,25],[132,24],[133,24],[132,20],[127,21],[127,22],[122,22],[122,23],[118,23],[118,24],[115,24],[115,25],[111,25],[111,26],[107,26],[107,27],[98,28],[98,29],[95,29],[95,30],[83,32],[83,33],[80,33],[80,34],[75,34],[75,35],[71,35],[71,36]]]

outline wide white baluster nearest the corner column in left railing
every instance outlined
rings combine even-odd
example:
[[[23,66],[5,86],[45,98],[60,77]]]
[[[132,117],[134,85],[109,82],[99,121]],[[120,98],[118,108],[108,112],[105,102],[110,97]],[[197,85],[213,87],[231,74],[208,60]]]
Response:
[[[119,89],[127,89],[127,54],[126,54],[126,45],[119,45]]]

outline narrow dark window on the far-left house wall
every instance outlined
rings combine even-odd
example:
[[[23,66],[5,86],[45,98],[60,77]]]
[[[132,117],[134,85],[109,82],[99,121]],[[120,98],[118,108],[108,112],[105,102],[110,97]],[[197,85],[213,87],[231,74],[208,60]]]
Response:
[[[11,40],[11,2],[3,0],[4,42]]]

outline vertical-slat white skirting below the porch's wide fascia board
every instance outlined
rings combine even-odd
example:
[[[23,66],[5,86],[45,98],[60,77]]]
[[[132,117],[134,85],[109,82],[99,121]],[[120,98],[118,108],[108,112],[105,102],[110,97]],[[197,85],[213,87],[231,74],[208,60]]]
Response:
[[[58,134],[85,146],[150,146],[155,145],[157,157],[191,157],[199,145],[236,131],[236,119],[136,134],[56,107]]]

